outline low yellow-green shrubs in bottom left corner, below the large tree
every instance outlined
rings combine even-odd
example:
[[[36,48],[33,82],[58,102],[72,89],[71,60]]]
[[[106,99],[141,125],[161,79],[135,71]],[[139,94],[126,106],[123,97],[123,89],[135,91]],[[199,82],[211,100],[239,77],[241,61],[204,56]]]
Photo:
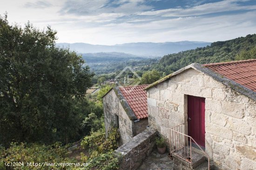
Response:
[[[68,167],[61,166],[33,166],[27,163],[75,163],[75,160],[67,157],[67,146],[61,146],[61,143],[54,145],[27,145],[21,143],[12,143],[10,148],[1,152],[0,162],[23,162],[23,166],[12,166],[13,170],[63,170]],[[1,167],[1,165],[0,165]],[[71,167],[69,167],[71,168]]]

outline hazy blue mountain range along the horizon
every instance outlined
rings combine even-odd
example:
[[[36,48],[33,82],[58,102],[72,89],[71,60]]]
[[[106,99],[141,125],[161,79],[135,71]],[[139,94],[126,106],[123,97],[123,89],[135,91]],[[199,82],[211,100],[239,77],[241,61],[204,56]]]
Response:
[[[79,53],[121,52],[141,57],[160,57],[167,54],[191,50],[210,45],[209,42],[180,41],[166,43],[126,43],[116,45],[93,45],[86,43],[57,43],[58,46],[75,50]]]

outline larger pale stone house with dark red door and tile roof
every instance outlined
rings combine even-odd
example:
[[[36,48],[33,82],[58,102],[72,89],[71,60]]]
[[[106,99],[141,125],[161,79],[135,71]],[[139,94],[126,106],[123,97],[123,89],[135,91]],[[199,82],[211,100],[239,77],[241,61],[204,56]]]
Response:
[[[145,90],[148,125],[166,138],[176,161],[189,163],[192,145],[216,169],[256,170],[256,59],[193,63]],[[179,163],[174,169],[186,169]]]

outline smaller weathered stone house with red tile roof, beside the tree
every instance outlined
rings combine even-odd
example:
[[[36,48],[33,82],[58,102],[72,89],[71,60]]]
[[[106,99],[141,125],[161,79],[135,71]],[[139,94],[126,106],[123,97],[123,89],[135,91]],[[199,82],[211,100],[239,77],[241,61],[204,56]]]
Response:
[[[125,144],[148,126],[148,85],[113,87],[103,96],[106,134],[111,126],[119,128],[119,144]]]

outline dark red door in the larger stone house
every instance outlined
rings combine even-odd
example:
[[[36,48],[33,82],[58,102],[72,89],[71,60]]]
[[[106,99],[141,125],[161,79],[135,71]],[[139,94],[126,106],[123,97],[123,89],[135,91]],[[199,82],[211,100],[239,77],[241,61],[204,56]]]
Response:
[[[195,142],[205,147],[205,98],[188,95],[188,133]]]

